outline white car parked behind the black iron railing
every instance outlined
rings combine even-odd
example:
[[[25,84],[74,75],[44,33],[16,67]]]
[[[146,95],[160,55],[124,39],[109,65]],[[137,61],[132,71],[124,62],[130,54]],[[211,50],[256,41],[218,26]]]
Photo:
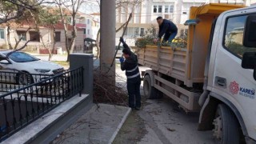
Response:
[[[0,59],[6,57],[8,53],[10,51],[0,51]],[[42,61],[30,54],[19,51],[10,54],[7,59],[1,60],[0,66],[0,81],[14,81],[20,85],[38,82],[49,78],[50,75],[64,71],[62,66],[54,62]]]

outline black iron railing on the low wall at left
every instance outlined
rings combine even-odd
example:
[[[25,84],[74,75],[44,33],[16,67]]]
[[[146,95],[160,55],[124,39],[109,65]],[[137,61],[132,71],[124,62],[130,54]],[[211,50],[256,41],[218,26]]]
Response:
[[[15,83],[8,88],[6,82],[4,84],[7,86],[6,91],[10,88],[17,89],[0,95],[0,142],[61,102],[80,94],[83,87],[82,67],[54,76],[48,75],[28,86]]]

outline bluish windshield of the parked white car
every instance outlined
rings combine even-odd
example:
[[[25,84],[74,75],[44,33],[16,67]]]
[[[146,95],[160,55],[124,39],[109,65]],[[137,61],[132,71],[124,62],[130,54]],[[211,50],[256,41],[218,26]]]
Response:
[[[8,53],[5,53],[5,55],[6,54]],[[14,52],[13,54],[10,54],[9,58],[14,62],[33,62],[39,60],[38,58],[35,58],[32,55],[23,52]]]

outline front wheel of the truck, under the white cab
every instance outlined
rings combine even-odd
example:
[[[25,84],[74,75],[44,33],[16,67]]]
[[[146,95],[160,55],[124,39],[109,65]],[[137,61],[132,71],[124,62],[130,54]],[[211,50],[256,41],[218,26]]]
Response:
[[[219,104],[214,118],[214,138],[219,144],[239,143],[239,124],[232,111]]]

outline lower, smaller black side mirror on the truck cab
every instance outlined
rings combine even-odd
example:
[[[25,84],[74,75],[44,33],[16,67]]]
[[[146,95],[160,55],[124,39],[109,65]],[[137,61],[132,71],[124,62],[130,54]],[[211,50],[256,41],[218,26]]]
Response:
[[[242,68],[254,70],[254,80],[256,80],[256,52],[246,52],[243,54]]]

